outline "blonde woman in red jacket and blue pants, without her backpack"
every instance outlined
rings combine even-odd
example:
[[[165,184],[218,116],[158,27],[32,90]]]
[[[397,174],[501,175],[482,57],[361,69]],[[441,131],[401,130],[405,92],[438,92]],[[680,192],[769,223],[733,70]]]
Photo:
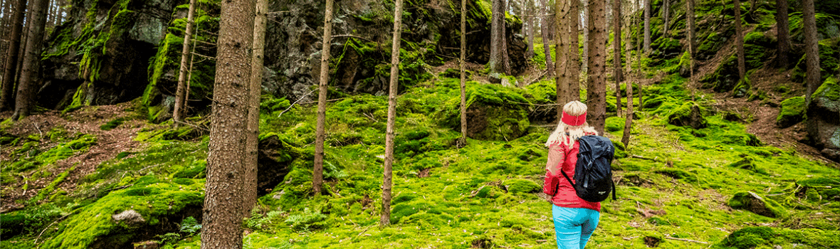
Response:
[[[549,194],[557,233],[559,249],[583,249],[598,226],[601,203],[580,199],[569,180],[563,177],[563,170],[570,178],[575,176],[575,163],[580,143],[578,138],[597,135],[586,123],[586,105],[571,101],[563,106],[563,116],[557,129],[549,136],[545,146],[549,148],[549,162],[546,163],[543,192]]]

